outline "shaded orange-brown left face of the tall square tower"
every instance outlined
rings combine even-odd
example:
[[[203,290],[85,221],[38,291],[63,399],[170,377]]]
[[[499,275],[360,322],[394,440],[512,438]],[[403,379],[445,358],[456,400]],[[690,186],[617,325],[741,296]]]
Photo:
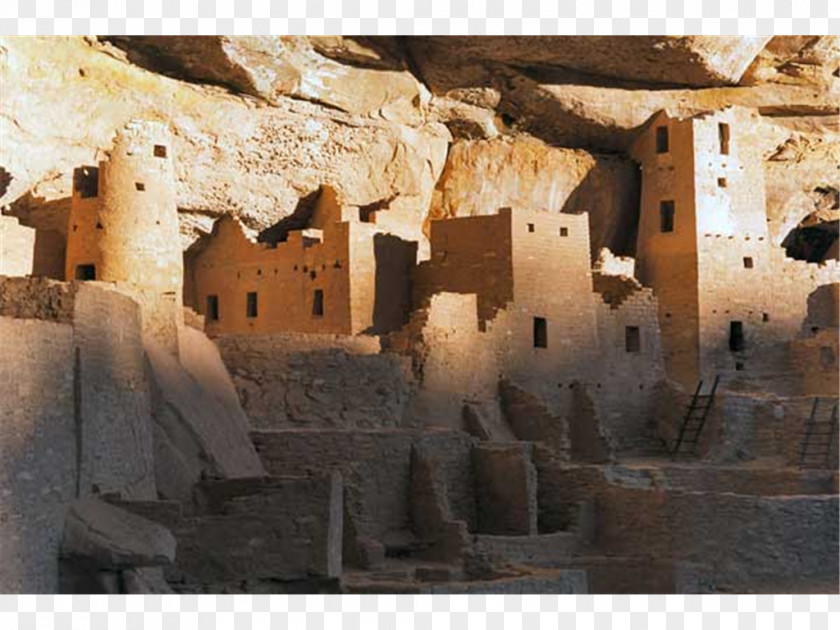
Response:
[[[656,152],[656,128],[669,129],[669,151]],[[639,280],[653,287],[659,303],[662,349],[669,376],[696,383],[698,266],[695,207],[694,129],[690,120],[656,116],[633,147],[642,165],[642,194],[636,246]],[[660,230],[660,202],[674,202],[673,231]]]

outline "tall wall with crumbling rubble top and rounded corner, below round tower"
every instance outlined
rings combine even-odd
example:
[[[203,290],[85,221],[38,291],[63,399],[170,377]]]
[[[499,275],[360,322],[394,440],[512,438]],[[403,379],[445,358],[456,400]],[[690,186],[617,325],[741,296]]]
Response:
[[[155,496],[139,310],[102,285],[0,278],[0,315],[0,588],[56,592],[71,500]]]

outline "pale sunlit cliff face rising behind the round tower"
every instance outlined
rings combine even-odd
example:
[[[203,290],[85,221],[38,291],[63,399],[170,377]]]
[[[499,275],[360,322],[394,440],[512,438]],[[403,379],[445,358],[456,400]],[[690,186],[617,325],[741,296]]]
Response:
[[[371,74],[358,78],[342,75],[344,66],[330,67],[317,71],[325,87],[314,79],[301,84],[311,97],[278,95],[267,105],[143,69],[110,44],[4,38],[0,77],[15,89],[3,93],[0,165],[8,183],[0,203],[34,227],[57,215],[50,229],[66,230],[73,168],[102,158],[114,129],[144,118],[172,129],[185,246],[223,213],[254,229],[268,227],[322,184],[350,205],[400,197],[424,213],[449,132],[395,114],[404,99],[390,95],[403,92],[376,88],[385,71],[365,70]],[[342,84],[352,89],[342,92]],[[412,89],[408,102],[418,94]],[[356,107],[353,98],[366,100]]]

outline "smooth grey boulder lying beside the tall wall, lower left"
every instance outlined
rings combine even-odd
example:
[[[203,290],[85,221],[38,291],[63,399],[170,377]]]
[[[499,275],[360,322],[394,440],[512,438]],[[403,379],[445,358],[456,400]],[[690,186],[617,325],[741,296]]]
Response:
[[[62,555],[100,569],[160,566],[175,560],[175,538],[162,525],[99,499],[83,499],[67,512]]]

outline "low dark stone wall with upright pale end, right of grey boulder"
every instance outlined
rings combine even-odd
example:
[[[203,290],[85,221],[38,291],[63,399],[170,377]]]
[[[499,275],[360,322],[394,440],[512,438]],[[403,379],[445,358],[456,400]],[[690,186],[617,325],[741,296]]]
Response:
[[[177,541],[171,577],[183,590],[220,592],[245,580],[309,580],[341,574],[343,484],[336,472],[210,481],[199,509],[177,502],[118,502]]]

